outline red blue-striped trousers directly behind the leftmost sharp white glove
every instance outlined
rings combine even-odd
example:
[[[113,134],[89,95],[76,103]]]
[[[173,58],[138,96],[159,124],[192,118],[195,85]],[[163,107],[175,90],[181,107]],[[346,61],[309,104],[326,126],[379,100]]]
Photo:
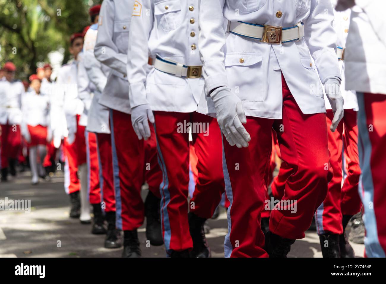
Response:
[[[144,204],[141,198],[141,186],[146,171],[144,140],[138,140],[131,124],[131,115],[117,110],[110,110],[110,126],[112,129],[111,145],[113,154],[113,174],[117,227],[122,230],[134,230],[141,227],[144,221]],[[154,134],[153,134],[154,135]],[[154,149],[155,151],[156,149]],[[152,156],[147,154],[147,157]],[[158,167],[153,159],[153,169]],[[155,174],[157,176],[157,173]],[[158,174],[159,177],[161,177]],[[155,183],[153,176],[148,177]],[[159,179],[158,184],[161,183]],[[152,193],[159,194],[159,186],[149,186]]]

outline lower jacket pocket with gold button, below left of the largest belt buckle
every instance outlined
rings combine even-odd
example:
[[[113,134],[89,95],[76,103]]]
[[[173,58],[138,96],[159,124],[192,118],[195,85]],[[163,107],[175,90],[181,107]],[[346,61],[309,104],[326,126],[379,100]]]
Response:
[[[259,53],[228,53],[225,56],[225,70],[229,88],[240,100],[262,101],[264,93],[264,70],[262,54]]]

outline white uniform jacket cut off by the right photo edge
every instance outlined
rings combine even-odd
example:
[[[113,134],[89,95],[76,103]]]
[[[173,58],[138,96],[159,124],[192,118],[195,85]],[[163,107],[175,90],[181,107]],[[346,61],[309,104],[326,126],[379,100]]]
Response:
[[[346,90],[386,94],[386,1],[355,3],[344,60]]]

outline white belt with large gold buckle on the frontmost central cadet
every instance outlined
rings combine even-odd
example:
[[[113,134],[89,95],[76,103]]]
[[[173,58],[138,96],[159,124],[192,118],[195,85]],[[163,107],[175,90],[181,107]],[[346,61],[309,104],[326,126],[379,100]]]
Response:
[[[270,25],[258,25],[246,22],[228,22],[227,30],[232,34],[260,39],[261,42],[277,43],[298,41],[304,37],[304,23],[294,27],[282,28]]]

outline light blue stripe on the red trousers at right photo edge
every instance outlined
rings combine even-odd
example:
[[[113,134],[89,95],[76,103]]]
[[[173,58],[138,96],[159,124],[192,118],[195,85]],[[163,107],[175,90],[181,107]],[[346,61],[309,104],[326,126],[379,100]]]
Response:
[[[366,110],[364,104],[364,94],[357,92],[358,98],[358,149],[359,161],[362,169],[359,178],[359,196],[361,196],[364,214],[363,221],[366,228],[364,244],[367,257],[385,257],[385,252],[378,239],[377,221],[374,212],[374,183],[371,172],[371,152],[372,145],[369,136],[369,128],[366,120]],[[362,193],[363,190],[363,193]],[[370,206],[371,205],[371,206]],[[371,207],[371,208],[369,208]],[[385,216],[382,216],[385,218]]]

